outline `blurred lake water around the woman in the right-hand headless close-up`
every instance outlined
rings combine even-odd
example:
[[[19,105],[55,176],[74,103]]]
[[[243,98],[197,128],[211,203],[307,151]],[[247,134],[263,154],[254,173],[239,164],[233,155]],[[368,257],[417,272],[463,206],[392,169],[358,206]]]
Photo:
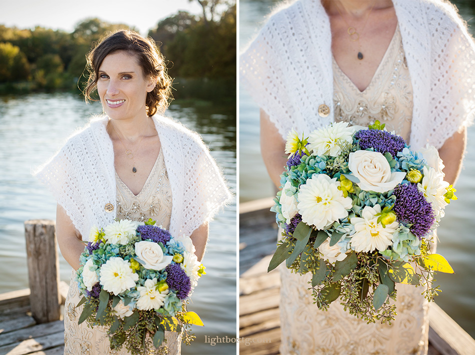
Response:
[[[281,1],[239,1],[239,46],[242,51],[264,23],[264,17]],[[458,1],[460,14],[474,24],[470,1]],[[473,28],[471,28],[472,33]],[[458,201],[447,206],[445,217],[437,229],[442,254],[455,270],[455,275],[438,273],[436,284],[442,293],[435,301],[466,332],[475,338],[475,127],[468,129],[467,152],[463,170],[456,184]],[[245,88],[239,89],[239,201],[250,201],[273,195],[273,187],[260,157],[259,108]]]

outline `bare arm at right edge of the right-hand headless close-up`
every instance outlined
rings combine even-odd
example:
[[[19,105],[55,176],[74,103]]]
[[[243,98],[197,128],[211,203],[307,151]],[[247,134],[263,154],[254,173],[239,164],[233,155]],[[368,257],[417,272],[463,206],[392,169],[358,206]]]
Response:
[[[448,138],[438,150],[440,159],[443,161],[444,180],[450,185],[455,184],[462,167],[463,153],[466,147],[466,127],[460,132],[455,132]]]

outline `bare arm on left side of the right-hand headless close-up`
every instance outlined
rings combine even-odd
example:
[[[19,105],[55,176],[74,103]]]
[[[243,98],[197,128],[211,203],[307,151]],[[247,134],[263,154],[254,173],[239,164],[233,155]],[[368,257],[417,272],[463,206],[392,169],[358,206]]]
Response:
[[[279,188],[280,174],[287,162],[285,141],[262,109],[260,110],[260,154],[272,182]]]

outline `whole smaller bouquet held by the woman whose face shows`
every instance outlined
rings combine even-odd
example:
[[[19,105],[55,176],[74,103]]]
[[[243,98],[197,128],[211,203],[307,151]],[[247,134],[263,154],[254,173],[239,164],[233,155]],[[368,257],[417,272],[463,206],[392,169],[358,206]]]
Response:
[[[183,331],[189,344],[187,327],[203,325],[186,312],[186,301],[205,268],[188,237],[175,239],[154,224],[120,220],[92,227],[80,256],[78,323],[104,326],[111,349],[125,345],[131,354],[147,354],[163,344],[166,352],[165,331]]]

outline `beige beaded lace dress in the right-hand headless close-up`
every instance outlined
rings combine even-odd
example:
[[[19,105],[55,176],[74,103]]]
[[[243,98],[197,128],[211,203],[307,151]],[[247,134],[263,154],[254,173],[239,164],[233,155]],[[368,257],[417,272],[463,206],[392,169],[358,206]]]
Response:
[[[404,139],[409,138],[412,86],[399,28],[369,86],[362,92],[333,58],[335,120],[367,126],[378,119]],[[308,275],[280,266],[280,354],[422,355],[427,353],[428,304],[421,288],[397,285],[397,316],[392,325],[369,324],[345,313],[338,300],[328,312],[313,305]]]

